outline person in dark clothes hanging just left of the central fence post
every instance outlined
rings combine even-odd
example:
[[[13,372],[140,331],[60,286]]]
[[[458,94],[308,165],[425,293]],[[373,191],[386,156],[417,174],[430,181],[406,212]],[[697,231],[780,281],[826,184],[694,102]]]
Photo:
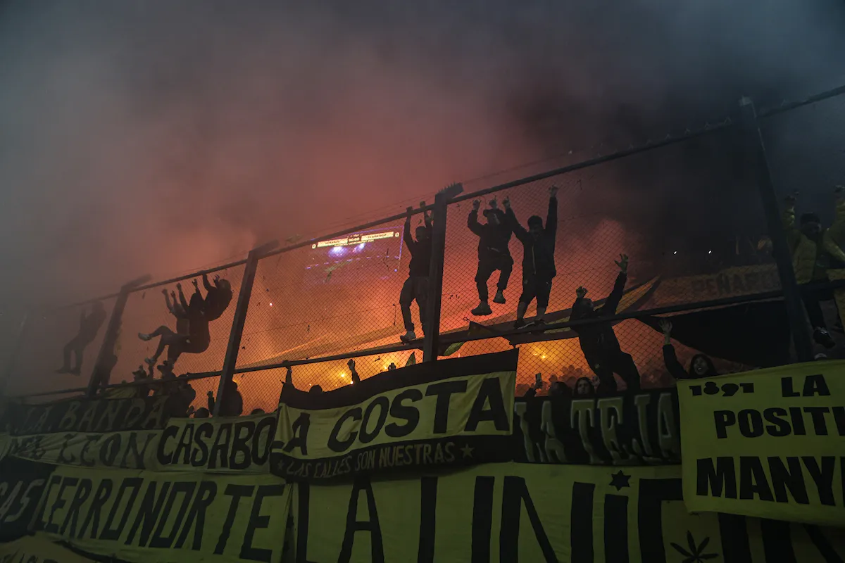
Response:
[[[405,322],[406,333],[400,338],[402,342],[411,342],[417,338],[414,333],[414,322],[411,318],[411,304],[417,301],[420,310],[420,323],[423,333],[426,331],[426,306],[428,304],[428,268],[431,264],[431,225],[428,215],[423,212],[425,226],[417,227],[417,240],[411,235],[411,215],[413,208],[407,209],[405,219],[405,244],[411,252],[411,263],[408,265],[408,279],[402,285],[399,294],[399,306],[402,310],[402,321]]]

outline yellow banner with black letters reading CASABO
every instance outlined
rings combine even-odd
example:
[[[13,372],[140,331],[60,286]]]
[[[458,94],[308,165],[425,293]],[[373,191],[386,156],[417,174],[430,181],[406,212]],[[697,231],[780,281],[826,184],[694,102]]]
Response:
[[[155,448],[160,471],[269,473],[275,413],[234,418],[171,419]]]

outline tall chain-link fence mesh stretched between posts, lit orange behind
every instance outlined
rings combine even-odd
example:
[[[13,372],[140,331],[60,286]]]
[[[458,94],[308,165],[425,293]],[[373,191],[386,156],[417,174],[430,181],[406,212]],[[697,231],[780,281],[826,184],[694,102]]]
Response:
[[[845,137],[841,127],[831,126],[842,121],[837,117],[843,111],[845,95],[759,113],[779,195],[799,190],[799,206],[818,211],[824,225],[835,219],[832,203],[814,194],[845,183]],[[490,188],[473,181],[465,189],[477,190],[477,197],[452,199],[444,225],[437,218],[428,225],[417,208],[407,230],[405,217],[397,214],[265,252],[257,266],[248,260],[217,272],[231,282],[232,302],[208,322],[208,344],[183,351],[173,371],[233,374],[248,414],[275,409],[286,362],[294,365],[297,387],[328,391],[352,381],[347,364],[352,356],[361,377],[422,361],[425,305],[438,281],[425,279],[432,264],[425,246],[442,226],[443,285],[434,316],[438,355],[518,346],[518,393],[537,374],[569,387],[581,377],[607,379],[608,372],[623,386],[634,381],[632,374],[642,387],[667,386],[673,382],[670,371],[691,369],[701,352],[711,356],[708,369],[722,373],[788,362],[795,357],[791,317],[784,311],[768,232],[771,213],[767,217],[761,204],[759,163],[750,158],[755,142],[755,132],[739,120],[719,122],[616,154],[581,153],[599,158],[525,181]],[[602,147],[602,153],[609,151]],[[556,198],[550,202],[553,187]],[[762,189],[768,189],[765,181]],[[434,254],[436,262],[436,249]],[[622,255],[626,279],[618,278]],[[251,267],[254,282],[237,363],[226,365],[230,329],[238,326],[237,295]],[[189,301],[191,279],[182,284]],[[201,278],[198,284],[204,295]],[[579,288],[586,294],[579,297]],[[521,296],[530,301],[524,310]],[[112,383],[129,381],[139,367],[152,366],[154,376],[162,371],[155,366],[169,349],[156,355],[161,333],[180,332],[173,300],[179,300],[174,283],[128,296]],[[532,324],[538,312],[544,326]],[[835,315],[826,312],[836,328]],[[51,315],[30,320],[8,394],[85,387],[100,340],[88,344],[79,376],[51,374],[62,363],[63,340],[76,334],[79,310]],[[665,317],[673,323],[671,331],[661,325]],[[156,333],[159,327],[166,330]],[[402,344],[403,336],[417,338]],[[840,344],[842,338],[834,336]],[[678,360],[671,367],[670,356],[664,357],[667,341]],[[194,408],[206,405],[218,382],[216,376],[193,380]]]

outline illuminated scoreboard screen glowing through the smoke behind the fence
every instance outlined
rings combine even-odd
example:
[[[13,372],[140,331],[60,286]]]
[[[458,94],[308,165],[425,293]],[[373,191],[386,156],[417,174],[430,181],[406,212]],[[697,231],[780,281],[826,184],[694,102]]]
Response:
[[[360,284],[399,271],[401,227],[364,230],[311,245],[306,266],[308,284]]]

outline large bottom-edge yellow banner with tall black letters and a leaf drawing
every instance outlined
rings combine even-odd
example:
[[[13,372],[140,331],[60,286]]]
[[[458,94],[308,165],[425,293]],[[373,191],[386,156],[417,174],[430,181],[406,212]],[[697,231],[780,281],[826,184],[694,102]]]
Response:
[[[297,484],[298,561],[717,561],[845,557],[841,530],[691,515],[679,467],[499,463],[453,474]]]

